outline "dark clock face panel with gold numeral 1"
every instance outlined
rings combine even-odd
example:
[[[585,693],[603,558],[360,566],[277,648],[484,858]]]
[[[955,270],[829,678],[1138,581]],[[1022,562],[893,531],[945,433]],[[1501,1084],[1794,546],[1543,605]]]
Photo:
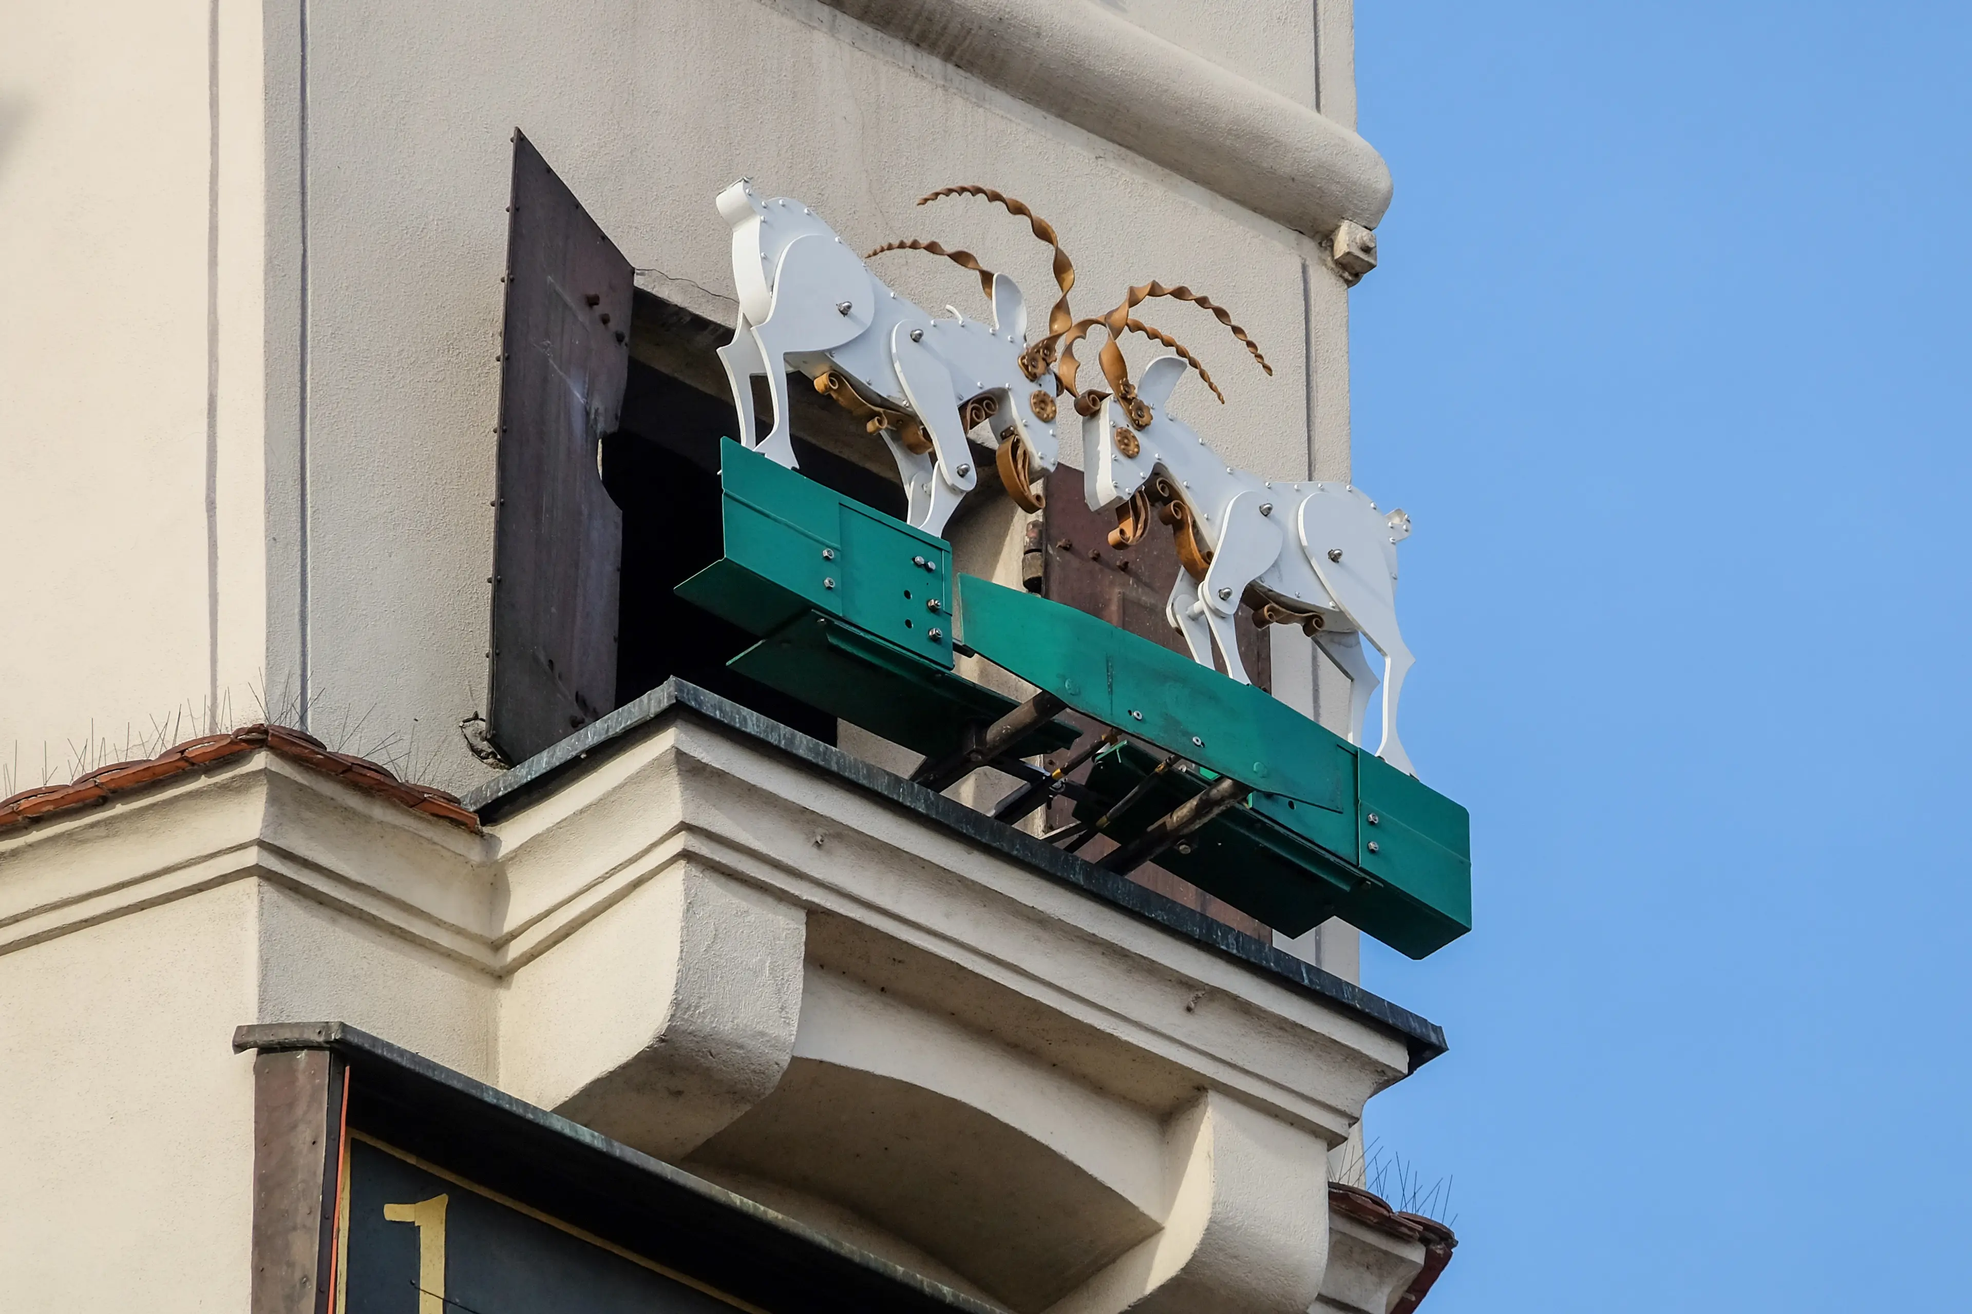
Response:
[[[337,1314],[732,1314],[724,1298],[353,1135]]]

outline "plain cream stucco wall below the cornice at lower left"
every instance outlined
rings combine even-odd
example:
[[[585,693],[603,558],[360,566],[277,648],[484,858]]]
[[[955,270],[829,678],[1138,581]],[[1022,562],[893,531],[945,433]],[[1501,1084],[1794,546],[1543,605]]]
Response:
[[[8,1308],[246,1308],[252,963],[252,883],[0,955]]]

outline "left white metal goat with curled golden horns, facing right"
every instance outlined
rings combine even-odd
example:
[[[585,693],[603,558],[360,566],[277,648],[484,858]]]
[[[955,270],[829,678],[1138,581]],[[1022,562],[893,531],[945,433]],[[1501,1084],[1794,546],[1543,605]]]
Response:
[[[1049,317],[1049,337],[1033,349],[1025,341],[1027,309],[1020,288],[1006,274],[980,268],[968,252],[937,242],[891,242],[870,254],[925,250],[976,272],[992,301],[992,325],[956,309],[951,319],[933,319],[876,278],[799,201],[763,201],[747,179],[718,197],[720,215],[734,230],[740,288],[740,323],[734,341],[720,349],[740,410],[740,441],[795,469],[787,372],[797,368],[818,392],[866,420],[872,433],[881,433],[903,477],[907,518],[931,534],[945,534],[952,510],[978,485],[966,431],[988,420],[998,439],[1000,481],[1023,508],[1041,506],[1033,481],[1055,469],[1057,459],[1055,394],[1041,378],[1053,359],[1053,339],[1071,323],[1067,303],[1075,282],[1075,266],[1053,229],[1025,205],[988,187],[945,187],[919,205],[945,195],[978,195],[1004,205],[1055,248],[1061,299]],[[767,376],[773,396],[773,427],[765,437],[757,437],[753,420],[755,374]]]

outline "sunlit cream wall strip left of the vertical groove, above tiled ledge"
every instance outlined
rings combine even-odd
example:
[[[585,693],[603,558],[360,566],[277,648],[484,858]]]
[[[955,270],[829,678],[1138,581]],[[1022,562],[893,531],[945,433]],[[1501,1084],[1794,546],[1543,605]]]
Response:
[[[207,691],[209,35],[205,4],[132,0],[10,6],[0,39],[0,768],[18,747],[26,784],[91,717],[120,741]]]

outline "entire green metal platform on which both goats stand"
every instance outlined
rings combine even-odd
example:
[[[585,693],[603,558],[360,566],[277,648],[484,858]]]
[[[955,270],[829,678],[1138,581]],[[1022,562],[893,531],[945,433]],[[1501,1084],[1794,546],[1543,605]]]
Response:
[[[952,670],[945,540],[732,439],[722,485],[726,558],[678,593],[761,636],[736,670],[929,758],[1014,711]],[[1122,731],[1077,804],[1118,845],[1232,778],[1236,804],[1158,851],[1162,867],[1290,936],[1339,916],[1424,957],[1471,928],[1467,812],[1416,778],[1262,690],[1043,597],[964,575],[956,621],[974,652]],[[1043,721],[1006,756],[1073,739]],[[1169,755],[1193,766],[1158,772]]]

